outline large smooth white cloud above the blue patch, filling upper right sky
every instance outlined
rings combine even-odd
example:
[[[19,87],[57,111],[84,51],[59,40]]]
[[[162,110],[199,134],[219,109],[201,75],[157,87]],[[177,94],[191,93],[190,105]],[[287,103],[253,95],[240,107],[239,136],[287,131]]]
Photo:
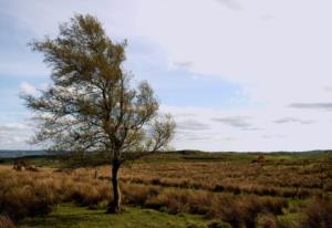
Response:
[[[215,0],[142,1],[136,24],[169,61],[189,60],[194,72],[241,82],[253,101],[280,105],[330,99],[324,87],[332,85],[332,2],[236,2],[241,10]],[[270,20],[262,20],[266,14]]]

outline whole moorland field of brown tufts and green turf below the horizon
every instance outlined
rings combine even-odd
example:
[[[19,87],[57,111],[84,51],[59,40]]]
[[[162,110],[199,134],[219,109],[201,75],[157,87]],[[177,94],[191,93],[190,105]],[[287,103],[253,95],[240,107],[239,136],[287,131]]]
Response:
[[[176,152],[126,164],[126,209],[105,215],[110,167],[0,166],[1,222],[17,227],[332,227],[332,153]],[[8,225],[9,226],[9,225]],[[1,226],[0,226],[1,227]]]

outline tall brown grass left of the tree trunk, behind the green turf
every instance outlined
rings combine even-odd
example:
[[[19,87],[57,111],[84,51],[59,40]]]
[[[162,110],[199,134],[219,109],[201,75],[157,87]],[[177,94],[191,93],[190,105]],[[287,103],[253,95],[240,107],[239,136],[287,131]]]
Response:
[[[46,216],[61,201],[94,206],[110,199],[108,183],[83,178],[83,174],[58,174],[0,169],[0,214],[19,220],[27,216]]]

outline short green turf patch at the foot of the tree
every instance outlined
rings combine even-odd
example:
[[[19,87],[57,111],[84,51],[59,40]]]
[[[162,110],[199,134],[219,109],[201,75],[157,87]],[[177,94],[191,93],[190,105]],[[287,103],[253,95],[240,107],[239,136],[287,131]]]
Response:
[[[135,207],[125,208],[120,215],[106,215],[104,210],[89,210],[72,205],[60,205],[45,219],[25,219],[20,228],[187,228],[196,225],[205,227],[205,220],[199,216],[172,216],[151,209]]]

